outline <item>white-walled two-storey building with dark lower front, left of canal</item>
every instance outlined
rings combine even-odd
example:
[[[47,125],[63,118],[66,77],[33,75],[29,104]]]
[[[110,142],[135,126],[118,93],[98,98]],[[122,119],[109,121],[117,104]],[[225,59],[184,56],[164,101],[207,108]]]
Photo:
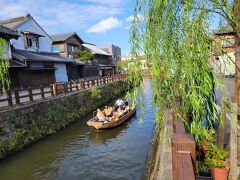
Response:
[[[12,87],[25,89],[68,81],[66,64],[71,60],[51,52],[52,38],[30,14],[0,24],[17,31],[19,36],[11,40],[12,57],[24,65],[10,71]]]

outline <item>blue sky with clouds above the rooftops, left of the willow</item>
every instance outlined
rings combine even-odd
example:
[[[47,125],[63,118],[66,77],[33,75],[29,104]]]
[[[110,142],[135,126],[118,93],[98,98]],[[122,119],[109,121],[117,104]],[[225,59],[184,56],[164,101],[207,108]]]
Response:
[[[135,0],[0,0],[0,20],[30,13],[48,34],[76,32],[85,42],[130,51]]]

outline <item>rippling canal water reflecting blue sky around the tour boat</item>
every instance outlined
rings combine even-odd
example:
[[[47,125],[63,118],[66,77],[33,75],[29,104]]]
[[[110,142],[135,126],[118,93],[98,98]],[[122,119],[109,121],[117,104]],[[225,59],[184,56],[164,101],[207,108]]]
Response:
[[[142,179],[155,120],[150,80],[144,85],[144,110],[138,107],[129,121],[98,131],[86,125],[90,115],[79,119],[1,160],[0,180]]]

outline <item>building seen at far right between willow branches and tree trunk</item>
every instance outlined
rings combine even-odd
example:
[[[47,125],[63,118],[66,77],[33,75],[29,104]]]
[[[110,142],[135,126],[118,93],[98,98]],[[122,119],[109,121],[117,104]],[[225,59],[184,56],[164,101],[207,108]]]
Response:
[[[215,73],[235,74],[235,34],[232,27],[224,27],[214,33],[211,66]]]

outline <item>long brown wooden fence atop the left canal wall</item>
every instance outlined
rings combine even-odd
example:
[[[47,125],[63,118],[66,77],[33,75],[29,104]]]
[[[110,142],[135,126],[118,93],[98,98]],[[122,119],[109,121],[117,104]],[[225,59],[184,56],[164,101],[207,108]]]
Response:
[[[7,91],[6,98],[0,99],[1,107],[20,105],[21,103],[32,102],[37,99],[45,99],[46,97],[56,97],[61,94],[72,93],[75,91],[82,91],[92,86],[102,85],[109,82],[116,82],[124,79],[124,74],[116,74],[106,77],[94,77],[80,79],[77,81],[69,81],[68,83],[54,83],[49,87],[43,87],[40,85],[39,89],[32,89],[28,87],[27,91]],[[23,100],[24,99],[24,100]]]

